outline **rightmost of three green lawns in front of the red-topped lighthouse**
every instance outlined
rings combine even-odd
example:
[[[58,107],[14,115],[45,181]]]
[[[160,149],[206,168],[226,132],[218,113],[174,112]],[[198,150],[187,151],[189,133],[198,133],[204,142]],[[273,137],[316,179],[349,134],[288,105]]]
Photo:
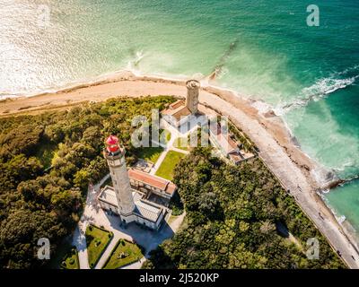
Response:
[[[125,239],[119,239],[103,269],[118,269],[144,257],[141,248]]]

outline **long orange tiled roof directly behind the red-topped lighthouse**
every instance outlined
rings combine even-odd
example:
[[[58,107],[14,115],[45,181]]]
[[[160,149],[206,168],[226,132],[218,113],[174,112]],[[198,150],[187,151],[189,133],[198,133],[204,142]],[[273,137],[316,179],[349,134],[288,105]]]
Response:
[[[172,183],[170,180],[153,176],[151,174],[145,173],[141,170],[128,170],[129,178],[141,181],[144,184],[147,184],[152,187],[156,187],[164,191],[166,194],[172,196],[174,191],[177,189],[177,186]]]

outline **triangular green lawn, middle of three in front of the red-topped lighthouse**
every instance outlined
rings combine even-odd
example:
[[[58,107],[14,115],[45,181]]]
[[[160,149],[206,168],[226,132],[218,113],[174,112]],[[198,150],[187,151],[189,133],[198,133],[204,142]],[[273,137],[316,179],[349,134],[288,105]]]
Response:
[[[91,268],[97,264],[112,237],[112,232],[109,232],[108,230],[102,230],[94,225],[87,226],[87,255],[89,257],[89,265]]]

